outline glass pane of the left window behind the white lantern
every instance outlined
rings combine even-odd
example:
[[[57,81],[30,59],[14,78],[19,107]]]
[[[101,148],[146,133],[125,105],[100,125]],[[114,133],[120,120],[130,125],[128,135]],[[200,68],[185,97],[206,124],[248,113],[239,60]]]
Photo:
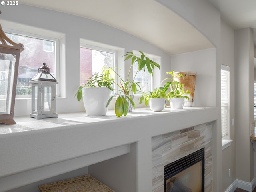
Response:
[[[56,78],[56,45],[58,40],[6,32],[8,38],[24,45],[20,54],[16,98],[30,97],[29,81],[38,73],[38,68],[45,62],[50,67],[51,74]],[[47,49],[47,51],[45,51]],[[2,75],[2,74],[1,74]]]

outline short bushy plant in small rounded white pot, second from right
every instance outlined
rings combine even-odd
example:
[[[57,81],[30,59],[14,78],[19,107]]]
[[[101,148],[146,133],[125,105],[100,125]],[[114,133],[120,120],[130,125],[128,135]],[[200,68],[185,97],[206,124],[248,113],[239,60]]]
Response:
[[[165,106],[165,99],[167,89],[165,87],[155,88],[153,92],[142,93],[140,97],[140,104],[145,100],[145,105],[148,105],[152,111],[162,111]]]

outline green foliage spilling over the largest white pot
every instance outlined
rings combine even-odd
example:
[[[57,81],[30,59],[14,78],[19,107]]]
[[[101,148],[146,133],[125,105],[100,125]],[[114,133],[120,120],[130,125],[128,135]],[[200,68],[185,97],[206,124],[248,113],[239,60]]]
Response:
[[[113,79],[107,78],[105,74],[99,74],[99,72],[94,73],[88,78],[87,83],[78,88],[75,96],[77,96],[77,100],[80,101],[82,98],[82,89],[84,87],[107,87],[110,90],[113,90],[113,82]]]

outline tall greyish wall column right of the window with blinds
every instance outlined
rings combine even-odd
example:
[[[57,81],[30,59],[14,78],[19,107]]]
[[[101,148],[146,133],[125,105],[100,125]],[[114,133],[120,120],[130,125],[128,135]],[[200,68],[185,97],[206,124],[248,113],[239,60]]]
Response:
[[[236,176],[251,182],[254,178],[254,154],[250,142],[253,118],[253,32],[251,28],[235,31],[236,67]]]

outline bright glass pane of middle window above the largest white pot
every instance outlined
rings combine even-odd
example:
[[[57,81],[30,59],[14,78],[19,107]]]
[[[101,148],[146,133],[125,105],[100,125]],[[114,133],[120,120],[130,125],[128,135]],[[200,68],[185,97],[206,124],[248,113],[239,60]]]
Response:
[[[115,66],[116,52],[82,45],[80,47],[80,85],[93,73],[101,72],[103,66]]]

